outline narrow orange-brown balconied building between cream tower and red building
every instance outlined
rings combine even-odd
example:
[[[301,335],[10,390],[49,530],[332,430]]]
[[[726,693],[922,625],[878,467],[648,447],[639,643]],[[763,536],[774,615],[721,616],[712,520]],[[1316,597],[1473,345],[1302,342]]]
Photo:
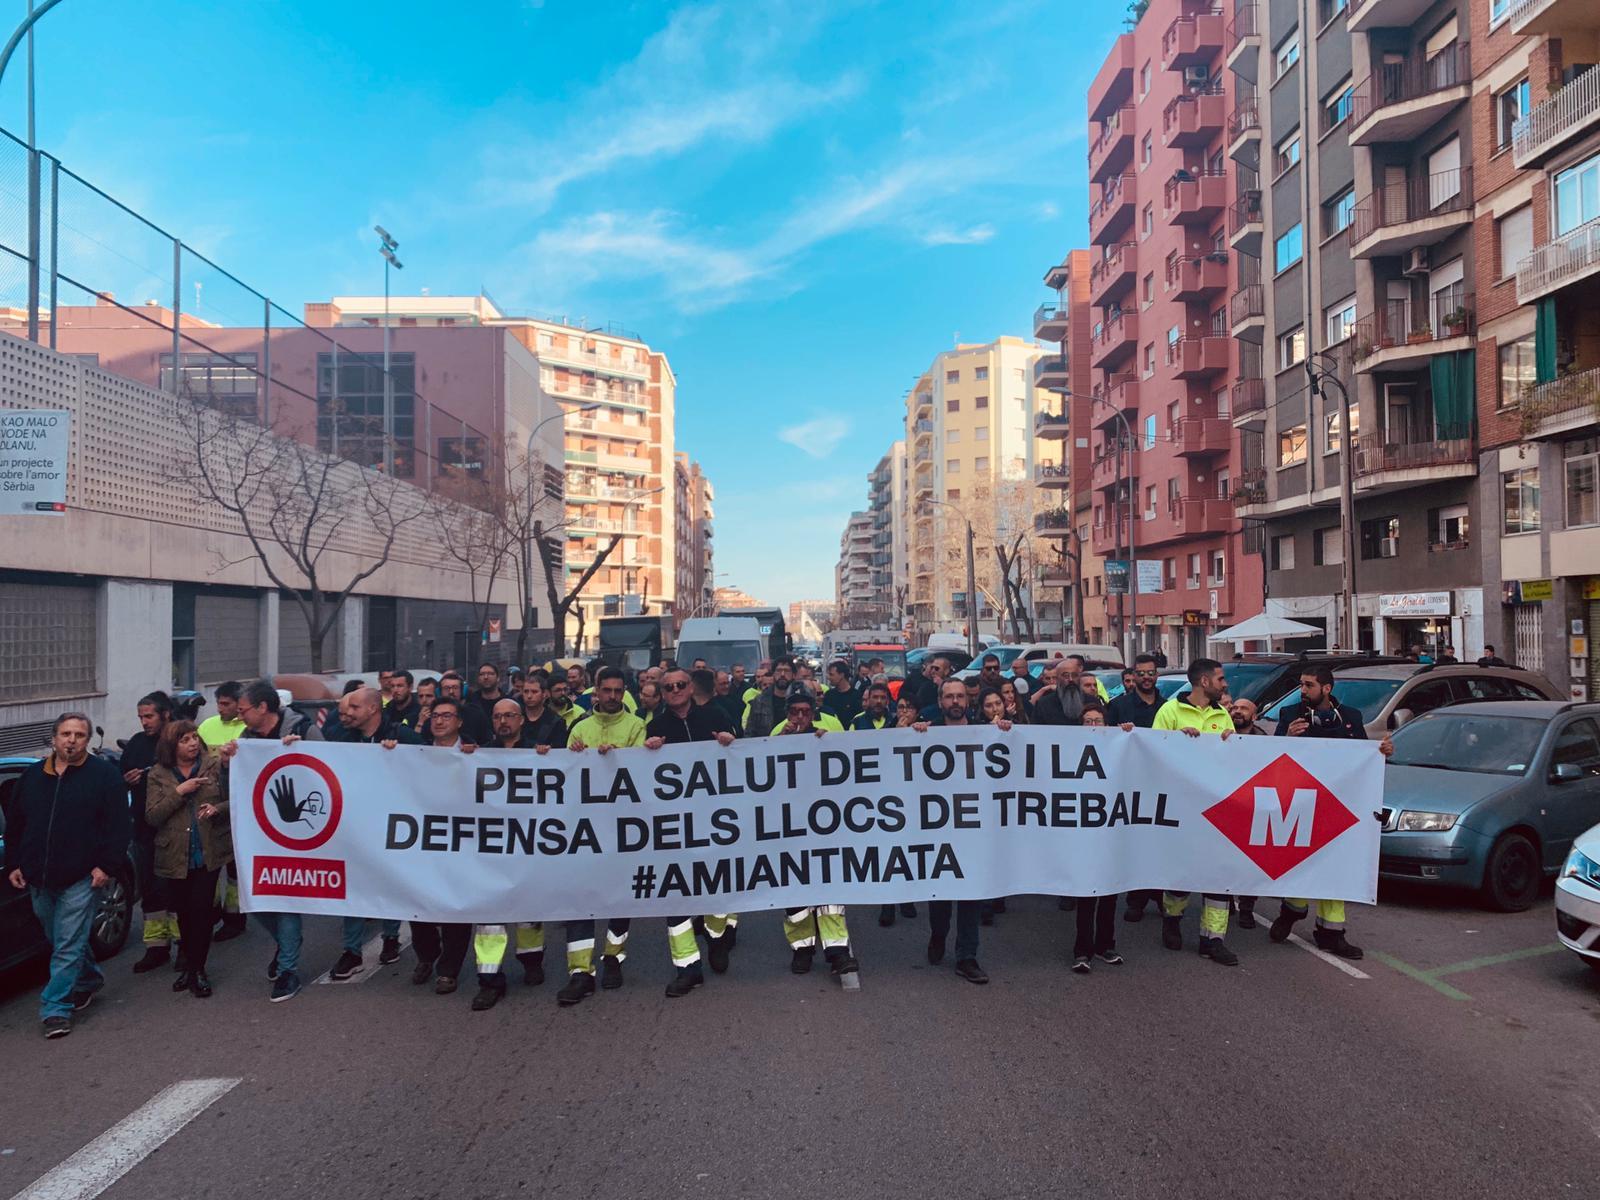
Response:
[[[1106,578],[1090,526],[1093,427],[1090,354],[1090,251],[1069,251],[1045,272],[1056,293],[1034,310],[1034,336],[1056,342],[1056,354],[1034,360],[1037,442],[1034,485],[1038,488],[1035,530],[1043,541],[1037,563],[1040,619],[1062,640],[1106,640]],[[1051,600],[1051,597],[1058,597]],[[1053,624],[1051,624],[1053,618]],[[1083,630],[1080,635],[1074,630]],[[1043,634],[1045,630],[1038,630]]]

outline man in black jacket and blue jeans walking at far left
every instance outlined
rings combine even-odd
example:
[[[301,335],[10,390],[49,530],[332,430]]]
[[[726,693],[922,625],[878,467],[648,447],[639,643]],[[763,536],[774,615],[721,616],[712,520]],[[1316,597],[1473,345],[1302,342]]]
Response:
[[[51,754],[18,779],[6,813],[5,872],[27,888],[50,939],[50,982],[38,998],[45,1037],[72,1032],[74,1010],[106,986],[90,950],[99,890],[125,869],[133,832],[128,787],[90,754],[90,718],[56,717]]]

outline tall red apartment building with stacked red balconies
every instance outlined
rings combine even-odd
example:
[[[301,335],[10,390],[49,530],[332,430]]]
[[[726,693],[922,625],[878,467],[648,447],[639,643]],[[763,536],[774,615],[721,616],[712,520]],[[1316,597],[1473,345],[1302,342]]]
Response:
[[[1090,538],[1107,624],[1176,662],[1262,598],[1230,501],[1234,389],[1254,366],[1230,298],[1261,278],[1259,243],[1232,232],[1258,181],[1230,154],[1226,35],[1211,0],[1152,0],[1088,94]]]

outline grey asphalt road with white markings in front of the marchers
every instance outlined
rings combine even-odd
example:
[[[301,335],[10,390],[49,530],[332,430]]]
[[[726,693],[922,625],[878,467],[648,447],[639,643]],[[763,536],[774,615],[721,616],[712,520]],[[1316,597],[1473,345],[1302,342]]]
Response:
[[[206,1002],[133,976],[130,947],[46,1043],[42,973],[16,971],[0,1197],[93,1195],[67,1184],[122,1162],[107,1131],[158,1142],[109,1197],[1579,1197],[1600,1178],[1600,989],[1549,899],[1386,893],[1352,909],[1363,978],[1264,925],[1219,968],[1195,910],[1184,954],[1147,917],[1118,925],[1126,965],[1078,978],[1070,914],[1019,898],[984,930],[987,987],[926,965],[923,918],[850,915],[858,992],[790,976],[774,914],[683,1000],[662,997],[662,923],[637,922],[627,986],[571,1010],[560,971],[534,989],[512,966],[472,1013],[469,978],[411,987],[410,950],[269,1005],[253,930],[218,947]],[[307,934],[312,974],[336,923]],[[218,1078],[237,1083],[182,1086]]]

